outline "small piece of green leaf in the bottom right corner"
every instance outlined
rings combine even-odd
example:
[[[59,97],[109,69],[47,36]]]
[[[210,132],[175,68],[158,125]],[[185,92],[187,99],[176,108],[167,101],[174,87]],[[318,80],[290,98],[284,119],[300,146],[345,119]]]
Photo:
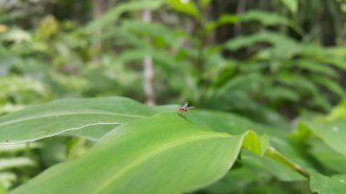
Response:
[[[319,194],[342,194],[346,189],[346,174],[327,177],[320,173],[311,174],[310,188]]]

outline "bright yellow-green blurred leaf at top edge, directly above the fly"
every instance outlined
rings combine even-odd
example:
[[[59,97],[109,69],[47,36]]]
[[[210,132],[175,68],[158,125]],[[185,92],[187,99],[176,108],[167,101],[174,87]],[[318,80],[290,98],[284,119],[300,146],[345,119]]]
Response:
[[[199,17],[198,8],[191,0],[168,0],[168,4],[178,12]]]

